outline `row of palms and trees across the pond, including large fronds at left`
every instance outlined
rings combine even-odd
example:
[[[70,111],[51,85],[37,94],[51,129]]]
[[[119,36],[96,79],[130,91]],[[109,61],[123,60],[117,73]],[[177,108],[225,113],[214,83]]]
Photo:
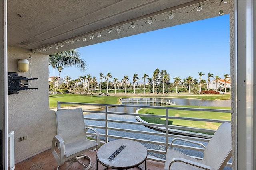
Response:
[[[128,76],[124,75],[124,77],[119,81],[118,78],[113,78],[110,72],[104,74],[99,73],[100,75],[100,82],[98,83],[95,76],[92,76],[90,74],[79,76],[78,79],[72,80],[70,76],[65,76],[64,81],[66,81],[66,84],[62,83],[59,85],[59,77],[60,73],[63,70],[63,67],[66,66],[76,66],[80,68],[81,71],[86,70],[87,65],[86,62],[81,59],[80,53],[74,49],[69,51],[64,51],[56,54],[52,54],[49,56],[49,66],[52,66],[53,73],[54,73],[54,79],[51,84],[49,84],[49,88],[53,89],[54,92],[58,91],[58,88],[60,89],[67,89],[68,92],[94,92],[96,88],[100,89],[100,92],[102,92],[102,89],[106,89],[107,93],[108,90],[115,89],[116,88],[123,88],[124,93],[126,94],[126,88],[130,86],[134,90],[135,94],[135,88],[137,86],[138,88],[138,81],[140,80],[138,74],[134,73],[134,76],[129,79]],[[58,70],[58,77],[55,76],[55,68]],[[191,86],[192,90],[194,92],[202,90],[202,88],[205,88],[207,86],[207,90],[209,90],[209,83],[210,78],[214,78],[216,81],[216,91],[217,91],[217,82],[220,80],[220,76],[215,76],[212,73],[208,73],[208,82],[206,80],[202,79],[202,76],[205,74],[202,72],[198,72],[198,78],[193,78],[191,76],[188,76],[187,78],[183,78],[183,80],[180,77],[174,77],[173,82],[171,82],[170,74],[166,70],[159,70],[158,68],[154,70],[152,73],[151,78],[148,76],[147,73],[144,73],[142,76],[142,80],[144,81],[143,87],[140,86],[140,88],[143,88],[143,93],[145,94],[145,88],[149,88],[150,93],[166,93],[166,92],[174,92],[171,90],[172,87],[176,87],[176,93],[178,93],[178,86],[182,86],[183,91],[189,91],[191,92]],[[102,81],[102,79],[105,79],[106,81]],[[113,80],[113,81],[111,81]],[[230,74],[224,74],[224,89],[226,92],[226,80],[230,80]],[[146,81],[148,82],[148,86],[146,86]],[[199,90],[197,90],[199,87]],[[181,92],[179,90],[179,92]]]

